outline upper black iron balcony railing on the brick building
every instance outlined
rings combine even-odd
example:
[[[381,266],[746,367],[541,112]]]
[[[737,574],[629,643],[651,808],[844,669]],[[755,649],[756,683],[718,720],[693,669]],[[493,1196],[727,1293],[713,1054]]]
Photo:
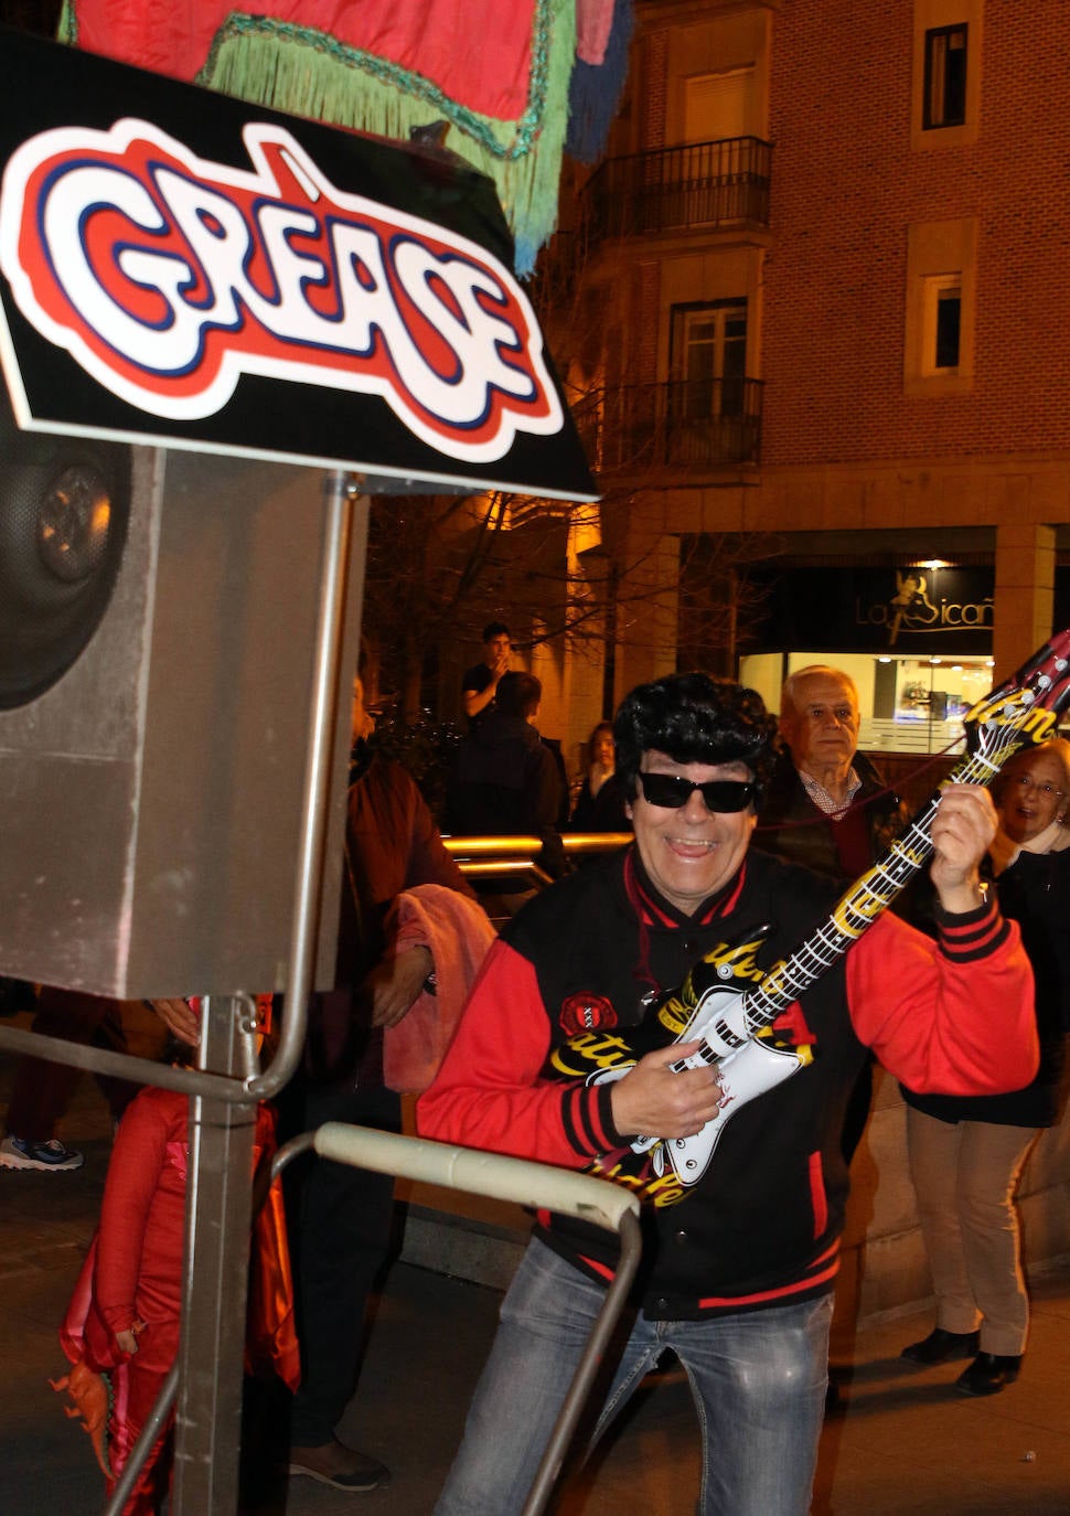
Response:
[[[684,226],[768,226],[773,147],[758,136],[611,158],[582,191],[590,241]]]

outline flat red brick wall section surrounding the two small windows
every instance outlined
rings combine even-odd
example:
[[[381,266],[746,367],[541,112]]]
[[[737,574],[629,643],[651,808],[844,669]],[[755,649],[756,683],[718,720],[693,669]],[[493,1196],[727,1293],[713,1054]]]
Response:
[[[976,141],[935,130],[926,150],[912,144],[914,15],[902,0],[824,0],[776,17],[762,352],[771,467],[1070,446],[1070,11],[1041,0],[1026,35],[1015,0],[985,0],[984,47],[970,30]],[[973,382],[908,396],[911,229],[968,218]]]

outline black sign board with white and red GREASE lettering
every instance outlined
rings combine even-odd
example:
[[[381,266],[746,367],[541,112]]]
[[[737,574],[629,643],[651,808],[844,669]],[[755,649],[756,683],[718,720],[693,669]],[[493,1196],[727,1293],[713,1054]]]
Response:
[[[18,424],[596,499],[490,179],[0,27]]]

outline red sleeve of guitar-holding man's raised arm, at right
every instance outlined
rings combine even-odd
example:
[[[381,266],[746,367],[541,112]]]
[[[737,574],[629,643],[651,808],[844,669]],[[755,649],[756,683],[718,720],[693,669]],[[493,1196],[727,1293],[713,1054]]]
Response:
[[[1037,1073],[1032,969],[991,901],[934,941],[885,911],[847,954],[855,1031],[911,1090],[1000,1095]]]

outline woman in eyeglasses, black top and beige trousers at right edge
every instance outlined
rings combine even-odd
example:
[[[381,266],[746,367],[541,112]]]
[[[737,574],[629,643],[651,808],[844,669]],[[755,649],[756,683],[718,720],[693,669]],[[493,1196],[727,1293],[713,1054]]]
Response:
[[[915,1095],[903,1087],[937,1325],[903,1349],[911,1363],[973,1361],[964,1395],[997,1395],[1018,1377],[1029,1330],[1014,1195],[1041,1131],[1061,1113],[1070,1031],[1070,743],[1017,753],[996,787],[988,858],[999,904],[1018,922],[1037,984],[1040,1072],[1012,1095]]]

